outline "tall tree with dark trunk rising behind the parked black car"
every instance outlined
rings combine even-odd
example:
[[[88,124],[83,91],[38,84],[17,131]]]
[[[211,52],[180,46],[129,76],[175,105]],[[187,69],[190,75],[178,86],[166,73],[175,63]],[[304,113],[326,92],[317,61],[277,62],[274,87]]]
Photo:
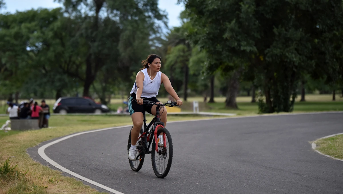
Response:
[[[130,75],[132,63],[142,59],[142,48],[150,50],[149,39],[157,33],[155,21],[165,22],[166,16],[157,7],[156,0],[58,0],[63,2],[70,17],[80,18],[78,36],[85,41],[83,95],[89,96],[90,87],[106,64]],[[86,8],[86,12],[81,10]],[[132,11],[135,10],[135,11]],[[137,29],[145,29],[137,31]],[[115,46],[115,47],[114,47]],[[119,56],[111,61],[112,55]],[[146,56],[146,53],[145,55]],[[80,78],[79,72],[72,72]],[[127,76],[130,77],[130,76]]]

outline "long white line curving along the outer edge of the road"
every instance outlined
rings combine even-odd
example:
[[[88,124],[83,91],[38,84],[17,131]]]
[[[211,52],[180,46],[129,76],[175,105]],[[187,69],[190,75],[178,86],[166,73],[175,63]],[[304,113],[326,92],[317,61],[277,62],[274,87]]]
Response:
[[[286,115],[308,115],[308,114],[328,114],[328,113],[343,113],[343,112],[314,112],[314,113],[289,113],[289,114],[273,114],[273,115],[254,115],[254,116],[237,116],[237,117],[221,117],[221,118],[209,118],[209,119],[194,119],[194,120],[181,120],[181,121],[169,121],[168,123],[175,123],[175,122],[190,122],[190,121],[201,121],[201,120],[217,120],[217,119],[232,119],[232,118],[247,118],[247,117],[263,117],[263,116],[286,116]],[[102,185],[100,183],[97,183],[95,181],[92,181],[90,179],[87,179],[83,176],[81,176],[80,174],[77,174],[73,171],[68,170],[67,168],[64,168],[62,166],[60,166],[59,164],[57,164],[54,160],[50,159],[46,154],[45,154],[45,149],[47,147],[49,147],[50,145],[54,145],[55,143],[61,142],[63,140],[69,139],[71,137],[77,136],[77,135],[82,135],[85,133],[93,133],[93,132],[98,132],[98,131],[104,131],[104,130],[109,130],[109,129],[118,129],[118,128],[124,128],[124,127],[131,127],[132,125],[126,125],[126,126],[118,126],[118,127],[109,127],[109,128],[104,128],[104,129],[96,129],[96,130],[92,130],[92,131],[84,131],[84,132],[80,132],[80,133],[75,133],[75,134],[71,134],[68,135],[66,137],[60,138],[58,140],[52,141],[50,143],[47,143],[45,145],[43,145],[42,147],[38,148],[38,154],[40,157],[42,157],[44,160],[46,160],[48,163],[50,163],[52,166],[55,166],[56,168],[62,170],[63,172],[66,172],[68,174],[71,174],[74,177],[77,177],[83,181],[86,181],[88,183],[91,183],[95,186],[98,186],[106,191],[109,191],[111,193],[115,193],[115,194],[124,194],[121,193],[119,191],[116,191],[114,189],[111,189],[105,185]],[[313,148],[313,145],[312,145]],[[317,150],[316,150],[317,151]],[[318,152],[318,151],[317,151]],[[319,152],[320,153],[320,152]],[[321,154],[321,153],[320,153]],[[329,156],[330,157],[330,156]],[[336,159],[336,158],[335,158]],[[343,160],[342,160],[343,161]]]

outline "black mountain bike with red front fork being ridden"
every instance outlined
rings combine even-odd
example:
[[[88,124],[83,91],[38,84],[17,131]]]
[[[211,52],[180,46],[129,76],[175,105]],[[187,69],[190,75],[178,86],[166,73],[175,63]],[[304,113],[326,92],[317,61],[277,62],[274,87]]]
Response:
[[[155,102],[147,100],[143,100],[143,104],[156,105],[156,115],[151,120],[150,124],[146,126],[145,112],[143,113],[144,130],[141,128],[140,136],[136,142],[136,149],[138,150],[136,160],[132,161],[129,159],[130,167],[133,171],[139,171],[143,166],[145,154],[151,154],[152,168],[155,175],[158,178],[164,178],[167,176],[171,167],[171,161],[173,160],[173,142],[171,141],[169,131],[164,128],[164,123],[161,122],[159,111],[163,106],[173,107],[179,105],[172,101],[168,101],[164,104],[156,104]],[[131,130],[132,128],[133,126],[131,127]],[[131,130],[127,147],[128,153],[131,147]],[[159,134],[163,134],[163,145],[162,143],[159,144]],[[149,151],[151,144],[151,151]],[[165,161],[167,164],[165,164]]]

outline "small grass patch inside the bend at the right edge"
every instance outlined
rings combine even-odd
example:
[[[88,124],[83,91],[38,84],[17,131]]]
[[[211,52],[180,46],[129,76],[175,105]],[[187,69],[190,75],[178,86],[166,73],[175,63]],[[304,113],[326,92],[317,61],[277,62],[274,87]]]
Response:
[[[343,134],[316,140],[316,150],[334,158],[343,159]]]

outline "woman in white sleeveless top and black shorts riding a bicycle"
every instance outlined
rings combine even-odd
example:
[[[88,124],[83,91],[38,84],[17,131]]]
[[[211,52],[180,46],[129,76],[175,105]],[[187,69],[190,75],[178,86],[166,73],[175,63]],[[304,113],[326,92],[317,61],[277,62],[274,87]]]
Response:
[[[144,68],[137,73],[136,81],[133,84],[128,102],[129,112],[133,122],[133,128],[131,130],[131,147],[128,154],[130,160],[136,159],[136,142],[139,137],[140,129],[143,126],[143,113],[146,111],[149,114],[156,115],[156,105],[145,105],[143,104],[143,100],[153,101],[156,104],[163,104],[156,99],[159,87],[163,83],[166,91],[176,99],[176,104],[182,105],[182,101],[171,86],[168,76],[159,71],[161,68],[161,57],[151,54],[146,60],[142,61],[142,65]],[[160,112],[161,121],[166,125],[167,110],[163,107]],[[159,136],[160,140],[162,140],[161,136]]]

